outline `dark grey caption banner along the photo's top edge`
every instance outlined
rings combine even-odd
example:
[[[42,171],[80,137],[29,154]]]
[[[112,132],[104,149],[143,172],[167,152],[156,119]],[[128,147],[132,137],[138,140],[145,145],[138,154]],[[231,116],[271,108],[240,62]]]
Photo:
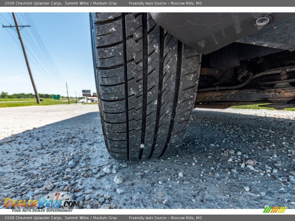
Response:
[[[289,0],[203,0],[203,1],[171,1],[171,0],[158,0],[158,1],[1,1],[0,7],[293,7],[295,1]]]

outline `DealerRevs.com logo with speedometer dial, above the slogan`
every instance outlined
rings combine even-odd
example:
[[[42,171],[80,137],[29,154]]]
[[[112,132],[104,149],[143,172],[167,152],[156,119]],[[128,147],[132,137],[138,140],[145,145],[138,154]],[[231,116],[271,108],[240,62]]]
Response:
[[[39,200],[14,200],[10,197],[6,197],[4,200],[4,207],[6,208],[81,208],[82,204],[82,201],[74,201],[63,192],[52,192],[42,196]]]

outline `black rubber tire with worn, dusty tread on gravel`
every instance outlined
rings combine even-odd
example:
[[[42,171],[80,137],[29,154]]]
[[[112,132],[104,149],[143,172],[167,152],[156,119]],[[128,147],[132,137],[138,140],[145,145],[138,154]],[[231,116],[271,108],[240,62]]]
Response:
[[[109,153],[120,160],[171,155],[191,119],[201,54],[148,13],[93,13],[90,20]]]

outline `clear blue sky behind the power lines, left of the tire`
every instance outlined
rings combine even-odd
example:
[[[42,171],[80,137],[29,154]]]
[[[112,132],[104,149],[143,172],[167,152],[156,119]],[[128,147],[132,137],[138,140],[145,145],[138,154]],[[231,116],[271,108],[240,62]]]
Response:
[[[0,22],[7,24],[7,21],[14,25],[11,14],[0,13]],[[26,25],[25,14],[16,13],[19,23]],[[30,58],[30,66],[37,86],[38,93],[66,95],[65,81],[69,84],[69,96],[82,96],[83,89],[90,89],[96,92],[91,40],[89,29],[88,13],[29,13],[53,63],[58,72],[53,73],[45,59],[42,58],[43,51],[38,49],[37,41],[31,32],[31,27],[21,30],[26,47],[32,52],[33,56],[27,51]],[[5,20],[5,19],[7,20]],[[29,19],[27,19],[29,20]],[[10,29],[9,32],[19,43],[16,30]],[[31,37],[31,39],[29,38]],[[25,38],[26,37],[26,38]],[[31,41],[31,42],[29,42]],[[29,45],[33,45],[33,48]],[[34,52],[34,49],[36,52]],[[40,53],[40,54],[38,54]],[[45,57],[45,55],[44,55]],[[43,63],[42,63],[43,61]],[[36,64],[33,64],[33,62]],[[41,67],[42,66],[42,67]],[[38,69],[39,68],[39,69]],[[43,73],[42,73],[43,72]],[[47,73],[47,75],[46,75]],[[46,77],[48,80],[46,79]],[[59,77],[61,76],[61,77]],[[53,82],[54,83],[53,83]],[[20,46],[13,40],[10,34],[0,27],[0,91],[13,93],[34,93],[26,67],[25,58]]]

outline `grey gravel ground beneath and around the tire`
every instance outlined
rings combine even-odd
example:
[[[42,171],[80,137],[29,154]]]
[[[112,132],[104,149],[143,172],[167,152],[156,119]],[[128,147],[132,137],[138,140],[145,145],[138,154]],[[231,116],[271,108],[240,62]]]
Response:
[[[85,208],[295,208],[295,113],[195,110],[181,151],[109,157],[96,105],[0,109],[4,197],[67,192]]]

